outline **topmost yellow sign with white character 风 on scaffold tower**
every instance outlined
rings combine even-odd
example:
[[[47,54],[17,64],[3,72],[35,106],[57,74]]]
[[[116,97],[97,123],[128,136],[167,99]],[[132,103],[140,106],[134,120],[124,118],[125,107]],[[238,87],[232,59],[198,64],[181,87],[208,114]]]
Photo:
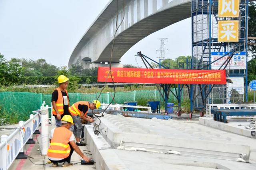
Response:
[[[218,17],[238,17],[239,0],[219,0]]]

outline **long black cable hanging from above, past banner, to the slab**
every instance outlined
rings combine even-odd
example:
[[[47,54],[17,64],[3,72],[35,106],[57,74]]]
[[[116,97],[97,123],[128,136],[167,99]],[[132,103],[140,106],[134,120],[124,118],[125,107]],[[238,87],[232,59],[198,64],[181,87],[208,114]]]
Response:
[[[112,43],[112,50],[111,50],[111,55],[110,55],[110,64],[109,64],[109,72],[108,72],[108,76],[110,74],[111,76],[111,80],[112,80],[112,83],[113,83],[113,87],[114,87],[114,96],[112,98],[112,101],[108,104],[108,106],[104,109],[103,113],[101,116],[104,116],[104,112],[106,111],[106,109],[110,106],[110,104],[112,104],[112,102],[114,101],[114,98],[116,96],[116,87],[115,87],[115,83],[114,83],[114,79],[113,79],[113,76],[112,76],[112,72],[111,72],[111,66],[112,66],[112,55],[113,55],[113,51],[114,51],[114,43],[115,43],[115,39],[116,39],[116,33],[119,29],[119,27],[121,26],[121,24],[123,23],[124,21],[124,15],[125,15],[125,12],[124,12],[124,0],[123,0],[123,12],[124,12],[124,15],[123,15],[123,18],[122,18],[122,21],[121,23],[118,25],[118,0],[116,0],[116,5],[117,5],[117,11],[116,11],[116,30],[115,30],[115,33],[114,33],[114,39],[113,39],[113,43]],[[118,25],[118,26],[117,26]],[[106,87],[106,83],[107,83],[107,80],[108,80],[108,76],[106,77],[106,82],[105,82],[105,85],[104,87],[102,88],[102,90],[100,91],[100,94],[98,96],[98,98],[96,100],[98,100],[100,98],[100,95],[102,94],[102,91],[104,90],[104,88]],[[92,110],[92,114],[99,119],[100,123],[101,123],[101,120],[99,118],[99,116],[95,115],[93,113],[93,110]],[[100,131],[99,131],[99,128],[100,128],[100,123],[97,125],[95,123],[94,127],[93,127],[93,131],[94,131],[94,134],[95,135],[99,135],[100,134]]]

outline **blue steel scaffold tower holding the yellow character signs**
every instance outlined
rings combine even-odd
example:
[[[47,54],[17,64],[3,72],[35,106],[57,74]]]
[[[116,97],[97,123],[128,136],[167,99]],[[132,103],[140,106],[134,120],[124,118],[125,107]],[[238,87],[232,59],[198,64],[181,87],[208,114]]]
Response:
[[[244,12],[245,11],[245,12]],[[248,59],[248,49],[247,49],[247,37],[248,37],[248,0],[240,0],[240,17],[235,20],[240,21],[240,38],[237,43],[221,43],[217,41],[216,38],[216,23],[218,21],[218,0],[192,0],[191,6],[191,21],[192,21],[192,69],[211,69],[211,64],[216,61],[211,61],[211,51],[226,51],[228,47],[233,47],[234,50],[230,53],[229,57],[233,57],[235,52],[238,51],[246,51],[246,70],[243,73],[233,73],[229,74],[230,77],[245,77],[245,98],[246,102],[248,101],[248,76],[247,76],[247,59]],[[199,19],[198,19],[199,18]],[[215,19],[215,20],[212,20]],[[223,18],[227,19],[227,18]],[[205,23],[203,22],[207,20],[207,27],[205,27]],[[200,22],[202,24],[200,25]],[[244,24],[245,22],[245,24]],[[198,24],[199,23],[199,24]],[[200,29],[201,28],[201,29]],[[213,28],[213,29],[212,29]],[[199,31],[198,31],[199,30]],[[204,31],[208,31],[208,36],[206,37],[206,33]],[[201,37],[200,37],[201,36]],[[198,38],[199,37],[199,38]],[[201,38],[201,39],[200,39]],[[198,48],[199,47],[199,48]],[[200,51],[200,50],[202,51]],[[198,56],[201,55],[200,60]],[[224,56],[223,56],[224,57]],[[208,59],[207,59],[208,58]],[[196,60],[197,59],[197,60]],[[199,62],[198,62],[199,61]],[[230,60],[229,60],[230,61]],[[229,63],[226,60],[226,66]],[[198,64],[199,63],[199,64]],[[206,63],[206,64],[205,64]],[[200,65],[201,68],[200,68]],[[222,65],[223,66],[223,65]],[[221,67],[222,67],[221,66]],[[224,69],[226,68],[224,66]],[[223,69],[223,68],[219,69]],[[202,96],[202,108],[205,107],[206,102],[211,103],[210,97],[208,97],[210,91],[214,87],[214,85],[199,85],[200,93]],[[204,86],[204,88],[202,88]],[[205,88],[206,87],[206,88]],[[195,94],[194,85],[190,85],[190,110],[193,110],[194,106],[194,96],[198,96]],[[205,101],[204,100],[205,97]]]

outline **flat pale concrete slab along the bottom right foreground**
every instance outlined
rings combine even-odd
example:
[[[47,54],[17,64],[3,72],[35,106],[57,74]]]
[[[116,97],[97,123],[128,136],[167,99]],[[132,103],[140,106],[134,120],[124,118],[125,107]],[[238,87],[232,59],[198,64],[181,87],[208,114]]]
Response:
[[[161,154],[143,151],[114,150],[130,170],[245,170],[255,169],[254,164],[232,160],[216,160],[179,154]]]

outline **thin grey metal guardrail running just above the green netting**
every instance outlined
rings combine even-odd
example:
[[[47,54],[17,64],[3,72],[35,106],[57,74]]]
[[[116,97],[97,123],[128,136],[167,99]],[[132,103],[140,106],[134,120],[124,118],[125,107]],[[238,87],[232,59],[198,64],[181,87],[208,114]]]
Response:
[[[115,86],[124,86],[124,85],[134,85],[134,84],[148,84],[153,85],[151,83],[115,83]],[[94,84],[78,84],[80,86],[104,86],[105,83],[94,83]],[[107,83],[108,86],[113,86],[113,83]],[[57,87],[57,85],[25,85],[25,86],[12,86],[12,87],[18,87],[18,88],[38,88],[38,87]]]

